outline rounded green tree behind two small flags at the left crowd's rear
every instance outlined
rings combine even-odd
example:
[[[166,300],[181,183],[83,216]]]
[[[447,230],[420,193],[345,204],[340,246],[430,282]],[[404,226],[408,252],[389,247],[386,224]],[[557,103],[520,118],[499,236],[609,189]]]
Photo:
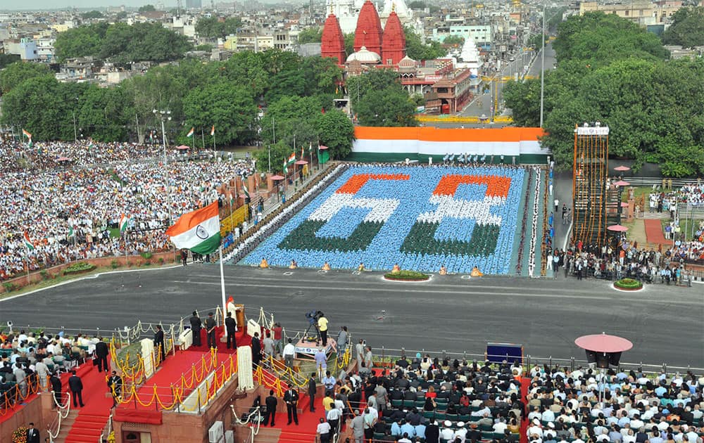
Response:
[[[188,129],[210,129],[214,124],[217,139],[224,144],[251,139],[257,107],[243,86],[219,82],[196,88],[184,98],[183,108]]]

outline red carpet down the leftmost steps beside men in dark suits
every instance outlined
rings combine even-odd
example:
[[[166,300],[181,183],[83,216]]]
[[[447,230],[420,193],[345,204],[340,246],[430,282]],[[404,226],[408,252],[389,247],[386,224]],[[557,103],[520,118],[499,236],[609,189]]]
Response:
[[[81,374],[82,371],[87,371]],[[108,394],[108,385],[105,377],[106,372],[98,372],[98,368],[93,366],[92,361],[83,364],[77,371],[83,382],[83,408],[78,406],[79,411],[75,422],[66,435],[65,443],[84,443],[96,442],[103,432],[108,416],[110,416],[110,408],[113,406],[113,399]],[[63,375],[62,382],[66,386],[68,384],[68,376]],[[65,388],[66,392],[68,387]],[[71,403],[73,408],[73,399]]]

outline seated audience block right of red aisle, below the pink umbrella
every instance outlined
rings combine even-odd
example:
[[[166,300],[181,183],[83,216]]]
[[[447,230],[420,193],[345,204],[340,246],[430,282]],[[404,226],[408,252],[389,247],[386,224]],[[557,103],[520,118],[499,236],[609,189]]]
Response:
[[[530,443],[700,443],[704,378],[535,366]]]

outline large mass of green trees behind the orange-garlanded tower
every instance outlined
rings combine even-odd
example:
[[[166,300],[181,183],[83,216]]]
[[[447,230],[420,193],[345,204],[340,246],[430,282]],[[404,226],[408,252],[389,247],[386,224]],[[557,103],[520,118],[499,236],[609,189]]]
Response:
[[[610,155],[660,163],[667,176],[704,172],[704,60],[667,60],[654,34],[603,13],[572,16],[554,46],[543,143],[560,169],[572,167],[574,125],[600,121],[611,129]],[[510,82],[504,98],[515,124],[539,124],[539,79]]]

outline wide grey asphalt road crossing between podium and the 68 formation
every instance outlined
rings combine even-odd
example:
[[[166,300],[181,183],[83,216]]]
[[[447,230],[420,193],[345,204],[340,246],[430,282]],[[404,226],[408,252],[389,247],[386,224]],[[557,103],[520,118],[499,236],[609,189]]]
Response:
[[[0,301],[15,326],[113,329],[165,323],[220,304],[218,267],[152,269],[86,278]],[[289,330],[320,309],[331,330],[346,325],[373,347],[482,353],[486,342],[522,343],[534,357],[584,359],[580,335],[610,333],[634,343],[622,361],[704,367],[704,287],[649,285],[622,293],[604,281],[433,276],[391,283],[376,272],[225,267],[227,295],[275,314]],[[106,334],[107,335],[107,334]]]

